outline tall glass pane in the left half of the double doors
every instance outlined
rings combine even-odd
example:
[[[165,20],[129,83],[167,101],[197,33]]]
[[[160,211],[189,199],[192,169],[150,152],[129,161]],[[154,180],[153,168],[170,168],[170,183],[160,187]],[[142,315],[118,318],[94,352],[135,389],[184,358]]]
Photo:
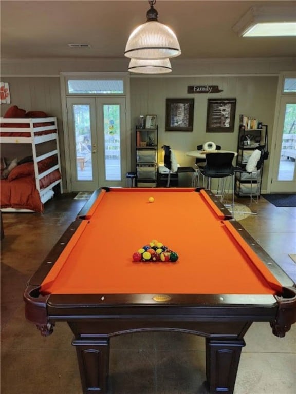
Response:
[[[90,106],[73,105],[77,181],[92,181]]]

